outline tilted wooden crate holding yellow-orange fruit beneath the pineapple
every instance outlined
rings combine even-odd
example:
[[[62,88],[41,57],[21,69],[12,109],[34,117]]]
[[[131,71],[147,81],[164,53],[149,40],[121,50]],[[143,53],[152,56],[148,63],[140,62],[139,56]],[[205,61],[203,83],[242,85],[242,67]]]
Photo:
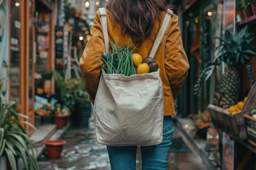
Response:
[[[247,100],[239,113],[231,115],[228,111],[213,104],[209,104],[209,113],[213,125],[217,128],[235,136],[240,140],[247,139],[244,115],[249,115],[256,108],[256,83],[252,86]]]

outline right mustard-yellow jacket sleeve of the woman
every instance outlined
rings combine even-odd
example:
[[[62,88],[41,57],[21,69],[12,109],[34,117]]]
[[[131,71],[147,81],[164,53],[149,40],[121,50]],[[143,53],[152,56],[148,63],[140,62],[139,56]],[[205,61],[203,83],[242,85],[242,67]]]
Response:
[[[166,40],[165,71],[176,99],[188,75],[189,61],[183,48],[177,15],[173,15],[171,21],[171,30]]]

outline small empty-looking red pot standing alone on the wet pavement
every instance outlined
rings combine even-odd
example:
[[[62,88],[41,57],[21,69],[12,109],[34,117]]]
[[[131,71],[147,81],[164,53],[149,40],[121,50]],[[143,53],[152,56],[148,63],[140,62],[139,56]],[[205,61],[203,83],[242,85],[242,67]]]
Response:
[[[59,158],[61,157],[61,151],[63,149],[63,145],[66,144],[66,141],[61,139],[45,140],[44,144],[49,158]]]

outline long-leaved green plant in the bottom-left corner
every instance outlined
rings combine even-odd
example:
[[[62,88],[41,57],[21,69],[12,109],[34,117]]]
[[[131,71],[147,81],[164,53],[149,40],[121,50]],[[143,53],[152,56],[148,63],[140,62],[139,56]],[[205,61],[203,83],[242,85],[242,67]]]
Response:
[[[2,85],[0,94],[1,91]],[[0,97],[0,157],[6,156],[11,170],[17,170],[18,159],[22,159],[26,170],[40,170],[34,153],[34,141],[29,138],[21,123],[35,127],[27,121],[21,121],[19,117],[29,117],[18,113],[17,110],[16,102],[4,103]]]

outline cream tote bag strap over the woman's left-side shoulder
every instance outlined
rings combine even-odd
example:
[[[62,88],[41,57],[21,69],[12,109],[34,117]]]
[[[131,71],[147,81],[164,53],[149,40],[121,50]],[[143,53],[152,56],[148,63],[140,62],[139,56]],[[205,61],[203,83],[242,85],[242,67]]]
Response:
[[[103,33],[103,39],[105,44],[105,52],[108,53],[108,46],[109,46],[109,40],[108,40],[108,24],[107,24],[107,13],[105,11],[105,8],[99,8],[99,14],[101,19],[101,29]]]

